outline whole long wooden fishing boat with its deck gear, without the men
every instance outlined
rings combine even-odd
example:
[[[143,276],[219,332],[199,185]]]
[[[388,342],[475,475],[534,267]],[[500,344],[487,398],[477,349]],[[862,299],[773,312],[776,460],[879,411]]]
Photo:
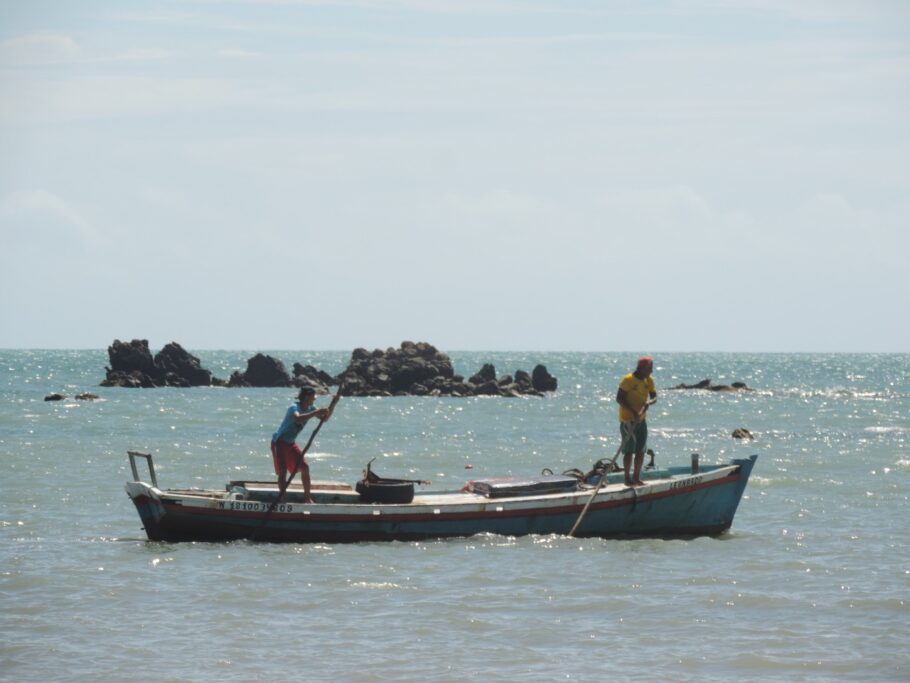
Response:
[[[503,536],[569,534],[602,538],[691,538],[727,531],[758,456],[725,464],[653,469],[630,487],[619,473],[493,477],[458,490],[418,491],[395,482],[395,502],[364,495],[381,485],[369,466],[364,480],[314,481],[313,503],[275,482],[231,481],[224,489],[161,489],[152,456],[129,452],[133,480],[126,493],[153,541],[256,541],[342,543],[411,541],[490,533]],[[147,461],[141,481],[137,459]],[[606,477],[604,479],[603,477]],[[407,485],[410,484],[410,495]],[[402,497],[402,488],[404,496]],[[359,490],[358,490],[359,489]]]

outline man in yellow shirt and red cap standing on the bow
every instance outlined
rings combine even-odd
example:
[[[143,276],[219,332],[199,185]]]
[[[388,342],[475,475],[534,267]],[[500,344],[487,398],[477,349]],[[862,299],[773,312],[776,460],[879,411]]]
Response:
[[[616,392],[619,404],[619,433],[622,436],[623,470],[626,486],[642,486],[641,466],[645,461],[645,446],[648,443],[648,423],[645,413],[657,400],[654,388],[654,360],[648,356],[638,359],[634,372],[622,378]],[[634,469],[632,458],[635,458]],[[631,472],[630,472],[631,470]]]

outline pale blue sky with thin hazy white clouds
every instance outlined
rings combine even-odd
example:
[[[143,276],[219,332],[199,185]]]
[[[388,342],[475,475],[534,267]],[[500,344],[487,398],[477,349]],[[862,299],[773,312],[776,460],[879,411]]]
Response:
[[[0,0],[0,348],[910,352],[910,3]]]

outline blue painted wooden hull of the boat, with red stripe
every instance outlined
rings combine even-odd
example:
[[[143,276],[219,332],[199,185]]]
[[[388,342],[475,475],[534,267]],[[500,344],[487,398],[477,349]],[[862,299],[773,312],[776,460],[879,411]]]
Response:
[[[692,473],[667,476],[629,488],[605,485],[576,536],[603,538],[694,537],[727,531],[757,456]],[[344,543],[411,541],[490,533],[504,536],[567,534],[590,490],[486,498],[469,492],[418,493],[407,504],[365,504],[338,492],[317,502],[282,503],[269,513],[271,498],[238,499],[230,492],[162,491],[127,482],[149,539],[155,541],[258,541]],[[335,502],[322,502],[323,500]]]

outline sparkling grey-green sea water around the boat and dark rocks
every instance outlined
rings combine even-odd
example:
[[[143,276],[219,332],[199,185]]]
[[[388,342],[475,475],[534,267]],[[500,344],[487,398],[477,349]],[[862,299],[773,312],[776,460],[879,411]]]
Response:
[[[259,350],[190,351],[227,378]],[[612,458],[635,354],[450,356],[466,376],[543,363],[559,389],[343,398],[314,478],[353,484],[376,458],[455,488]],[[722,537],[150,542],[127,450],[162,487],[270,477],[294,390],[104,388],[103,349],[0,350],[0,680],[910,680],[910,355],[654,356],[658,465],[758,454]],[[670,389],[705,378],[751,390]]]

